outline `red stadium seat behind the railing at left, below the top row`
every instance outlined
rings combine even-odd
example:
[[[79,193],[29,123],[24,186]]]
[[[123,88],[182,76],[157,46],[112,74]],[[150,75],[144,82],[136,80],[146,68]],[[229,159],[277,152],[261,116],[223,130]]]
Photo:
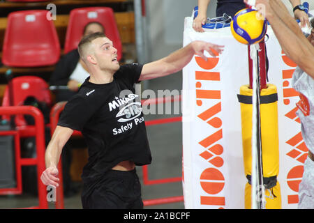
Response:
[[[20,106],[23,105],[24,100],[28,96],[33,96],[40,102],[46,102],[47,105],[52,105],[52,98],[50,95],[49,85],[40,77],[36,76],[22,76],[15,77],[12,79],[13,86],[13,105]],[[8,87],[4,91],[2,106],[10,105],[10,95]],[[3,119],[9,119],[8,117],[3,117]],[[15,124],[17,126],[27,125],[23,116],[15,117]]]

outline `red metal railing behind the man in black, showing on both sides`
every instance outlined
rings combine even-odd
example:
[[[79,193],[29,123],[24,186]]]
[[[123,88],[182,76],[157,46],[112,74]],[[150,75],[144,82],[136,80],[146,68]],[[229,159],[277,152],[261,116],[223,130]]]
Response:
[[[181,101],[181,96],[176,95],[174,97],[166,97],[166,98],[154,98],[154,99],[148,99],[148,100],[142,100],[142,107],[146,105],[151,105],[151,104],[160,104],[160,103],[166,103],[166,102],[179,102]],[[54,107],[52,107],[52,111],[50,113],[50,123],[51,123],[51,132],[53,134],[54,129],[57,126],[58,120],[60,113],[64,109],[64,106],[66,105],[66,102],[59,102]],[[149,120],[145,121],[146,125],[160,125],[164,123],[174,123],[174,122],[181,122],[182,117],[174,117],[174,118],[160,118],[160,119],[155,119],[155,120]],[[81,135],[80,132],[74,131],[73,134],[75,135]],[[56,208],[64,208],[64,202],[63,202],[63,181],[62,181],[62,168],[61,168],[61,158],[59,160],[58,164],[58,169],[59,169],[59,187],[57,187],[57,201],[56,201]],[[162,179],[154,179],[154,180],[149,180],[149,173],[148,173],[148,168],[147,165],[142,167],[143,171],[143,183],[144,185],[156,185],[156,184],[163,184],[163,183],[174,183],[174,182],[180,182],[182,181],[182,177],[174,177],[174,178],[162,178]],[[181,202],[184,201],[183,196],[178,196],[178,197],[165,197],[165,198],[158,198],[158,199],[149,199],[149,200],[144,200],[144,206],[153,206],[153,205],[159,205],[159,204],[164,204],[164,203],[175,203],[175,202]]]

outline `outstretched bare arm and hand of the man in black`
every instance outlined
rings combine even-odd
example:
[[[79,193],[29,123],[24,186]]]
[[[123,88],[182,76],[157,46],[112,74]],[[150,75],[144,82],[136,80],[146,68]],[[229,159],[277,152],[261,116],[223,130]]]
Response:
[[[203,41],[194,41],[163,59],[144,64],[139,80],[163,77],[178,72],[190,62],[194,54],[201,56],[202,59],[207,61],[207,57],[204,56],[204,50],[209,52],[211,56],[216,56],[213,50],[220,54],[223,52],[223,46]]]

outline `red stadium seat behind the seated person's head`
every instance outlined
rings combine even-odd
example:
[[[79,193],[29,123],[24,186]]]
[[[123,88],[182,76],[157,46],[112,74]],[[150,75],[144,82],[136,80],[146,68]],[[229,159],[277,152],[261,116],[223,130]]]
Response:
[[[106,36],[112,40],[114,47],[118,50],[119,61],[122,56],[121,39],[114,12],[112,8],[107,7],[76,8],[70,11],[64,52],[67,53],[77,48],[83,35],[84,26],[89,22],[100,22],[100,24],[103,24]]]

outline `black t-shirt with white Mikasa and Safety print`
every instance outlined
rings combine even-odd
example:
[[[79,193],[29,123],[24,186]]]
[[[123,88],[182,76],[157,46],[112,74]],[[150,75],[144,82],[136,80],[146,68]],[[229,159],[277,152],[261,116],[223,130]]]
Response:
[[[124,160],[151,163],[140,97],[134,89],[141,71],[142,65],[136,63],[120,66],[108,84],[93,84],[88,77],[66,104],[58,125],[81,131],[87,142],[84,183],[94,182]]]

